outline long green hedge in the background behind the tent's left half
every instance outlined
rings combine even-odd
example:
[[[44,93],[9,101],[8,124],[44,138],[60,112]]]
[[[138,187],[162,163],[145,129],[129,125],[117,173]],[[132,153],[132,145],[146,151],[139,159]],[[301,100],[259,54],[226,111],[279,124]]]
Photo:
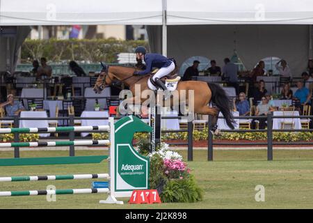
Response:
[[[61,61],[88,61],[97,63],[116,63],[117,54],[120,52],[134,52],[138,45],[147,47],[144,40],[116,40],[93,39],[93,40],[31,40],[26,39],[22,45],[22,63],[32,63],[34,59],[44,56],[49,62],[57,63]]]

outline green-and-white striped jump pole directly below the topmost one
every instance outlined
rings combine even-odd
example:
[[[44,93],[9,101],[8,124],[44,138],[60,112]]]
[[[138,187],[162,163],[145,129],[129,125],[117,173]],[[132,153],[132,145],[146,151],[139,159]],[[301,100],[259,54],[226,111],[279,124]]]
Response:
[[[3,147],[40,147],[40,146],[109,146],[110,140],[78,140],[78,141],[33,141],[0,143]]]

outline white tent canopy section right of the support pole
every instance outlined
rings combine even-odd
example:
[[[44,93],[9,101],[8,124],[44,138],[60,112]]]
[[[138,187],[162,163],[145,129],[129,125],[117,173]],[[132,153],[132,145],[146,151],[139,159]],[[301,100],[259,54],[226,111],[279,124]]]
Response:
[[[168,0],[168,25],[313,24],[312,0]]]

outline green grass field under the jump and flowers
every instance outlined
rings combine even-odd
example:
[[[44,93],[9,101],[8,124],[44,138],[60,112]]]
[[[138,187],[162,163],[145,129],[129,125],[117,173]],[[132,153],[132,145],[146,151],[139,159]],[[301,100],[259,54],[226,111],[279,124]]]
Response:
[[[24,151],[22,157],[67,155],[67,151]],[[77,151],[77,155],[100,155],[103,151]],[[179,151],[186,159],[186,151]],[[12,157],[0,152],[0,157]],[[207,162],[207,151],[194,151],[188,162],[204,200],[198,203],[161,203],[153,205],[99,204],[106,194],[57,195],[56,202],[45,196],[0,197],[0,208],[313,208],[313,151],[274,151],[274,161],[266,161],[265,150],[214,151],[214,162]],[[0,176],[46,174],[106,173],[108,165],[77,164],[56,166],[0,167]],[[1,191],[88,188],[93,180],[54,180],[3,182]],[[265,202],[255,201],[255,186],[264,185]],[[127,199],[124,199],[127,201]],[[125,202],[126,203],[126,202]]]

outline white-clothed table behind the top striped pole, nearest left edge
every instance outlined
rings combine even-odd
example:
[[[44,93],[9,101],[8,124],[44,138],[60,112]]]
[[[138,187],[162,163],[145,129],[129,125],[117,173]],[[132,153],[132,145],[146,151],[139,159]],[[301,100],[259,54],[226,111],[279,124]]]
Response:
[[[21,118],[47,118],[47,112],[21,112]],[[47,120],[20,120],[19,128],[48,128],[49,123]],[[40,133],[40,137],[49,137],[49,133]]]

